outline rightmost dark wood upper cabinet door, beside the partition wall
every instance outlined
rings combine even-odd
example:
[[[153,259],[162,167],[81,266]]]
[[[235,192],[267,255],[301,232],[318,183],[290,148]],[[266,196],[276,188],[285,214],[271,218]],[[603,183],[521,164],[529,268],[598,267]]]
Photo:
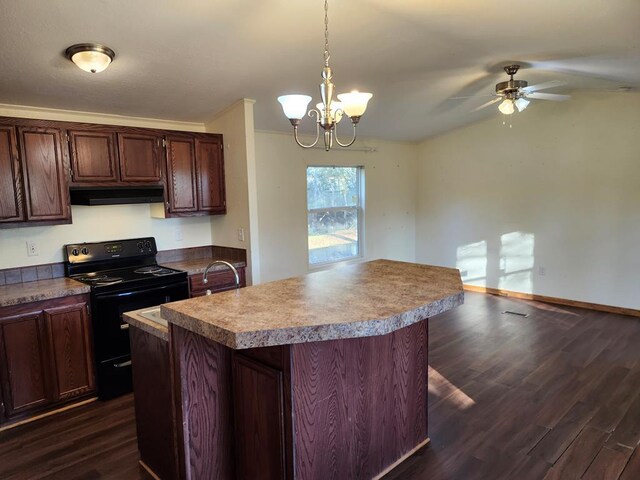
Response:
[[[222,136],[196,139],[196,178],[199,210],[226,213]]]

